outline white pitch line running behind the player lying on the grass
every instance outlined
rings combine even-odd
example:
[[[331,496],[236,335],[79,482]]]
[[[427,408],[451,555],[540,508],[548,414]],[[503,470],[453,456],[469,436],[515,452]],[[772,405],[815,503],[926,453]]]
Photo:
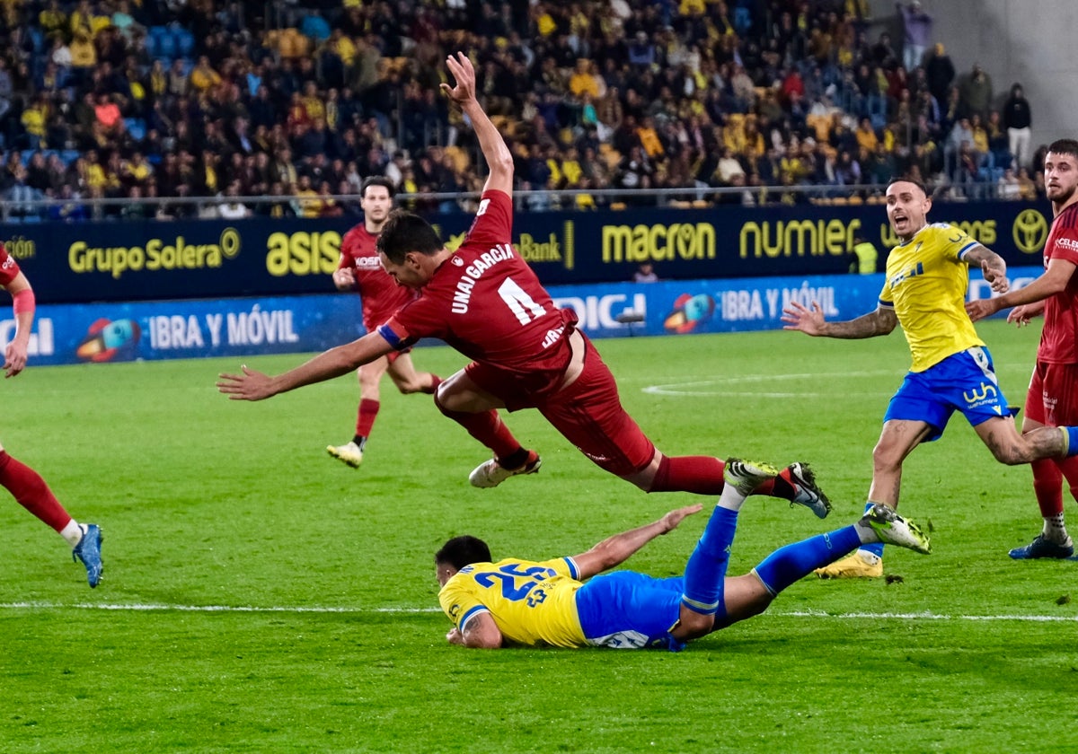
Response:
[[[103,610],[133,613],[344,613],[407,614],[441,613],[438,608],[337,608],[329,605],[226,605],[226,604],[119,604],[92,602],[0,602],[0,610]],[[941,615],[939,613],[825,613],[815,610],[791,612],[771,611],[765,616],[776,618],[834,618],[838,620],[1018,620],[1025,623],[1078,623],[1075,615]]]

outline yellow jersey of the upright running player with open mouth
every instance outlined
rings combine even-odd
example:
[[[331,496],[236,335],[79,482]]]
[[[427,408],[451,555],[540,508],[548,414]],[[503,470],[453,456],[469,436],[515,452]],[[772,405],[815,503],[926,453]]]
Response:
[[[887,255],[880,306],[894,309],[902,325],[913,357],[911,372],[984,345],[966,313],[969,267],[964,256],[976,246],[959,228],[932,223]]]

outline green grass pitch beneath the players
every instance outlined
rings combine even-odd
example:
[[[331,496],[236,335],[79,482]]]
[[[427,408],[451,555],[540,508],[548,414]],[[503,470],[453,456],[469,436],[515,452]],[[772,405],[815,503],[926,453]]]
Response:
[[[1021,404],[1034,330],[980,326]],[[860,515],[901,335],[757,333],[598,344],[665,452],[811,461],[820,521],[754,498],[731,571]],[[278,372],[301,357],[249,359]],[[446,348],[416,363],[446,376]],[[1058,752],[1078,743],[1078,563],[1007,558],[1040,518],[1026,467],[965,421],[908,460],[906,515],[935,553],[885,581],[790,587],[681,654],[444,641],[431,556],[473,533],[499,555],[579,553],[693,501],[593,466],[534,411],[508,417],[542,472],[468,486],[486,458],[428,396],[383,387],[363,466],[355,377],[227,401],[239,360],[32,367],[3,385],[0,441],[105,531],[87,588],[63,541],[0,506],[3,752]],[[1075,503],[1067,495],[1072,526]],[[680,573],[704,515],[627,564]]]

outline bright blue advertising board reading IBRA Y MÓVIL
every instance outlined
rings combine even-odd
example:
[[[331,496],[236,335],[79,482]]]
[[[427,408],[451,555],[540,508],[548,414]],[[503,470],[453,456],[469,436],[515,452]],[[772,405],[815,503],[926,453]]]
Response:
[[[1040,271],[1017,268],[1010,276],[1023,285]],[[558,306],[576,310],[585,332],[605,338],[776,330],[791,301],[816,301],[828,318],[849,319],[875,307],[882,285],[875,274],[552,285],[550,292]],[[969,295],[991,295],[976,274]],[[15,320],[0,319],[0,348],[14,333]],[[243,357],[321,351],[362,333],[359,299],[344,293],[45,304],[29,351],[39,365]]]

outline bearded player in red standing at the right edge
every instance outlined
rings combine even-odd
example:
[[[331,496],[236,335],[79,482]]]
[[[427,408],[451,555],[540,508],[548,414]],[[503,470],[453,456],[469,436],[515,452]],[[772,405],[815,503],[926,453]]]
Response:
[[[1045,316],[1037,364],[1025,396],[1022,432],[1078,424],[1078,141],[1060,139],[1045,156],[1045,188],[1052,227],[1045,241],[1045,274],[1025,288],[966,304],[975,322],[1013,306],[1008,322],[1028,324]],[[1078,500],[1078,457],[1044,458],[1031,464],[1033,491],[1045,519],[1033,542],[1010,550],[1015,560],[1069,558],[1074,542],[1063,522],[1063,478]]]

